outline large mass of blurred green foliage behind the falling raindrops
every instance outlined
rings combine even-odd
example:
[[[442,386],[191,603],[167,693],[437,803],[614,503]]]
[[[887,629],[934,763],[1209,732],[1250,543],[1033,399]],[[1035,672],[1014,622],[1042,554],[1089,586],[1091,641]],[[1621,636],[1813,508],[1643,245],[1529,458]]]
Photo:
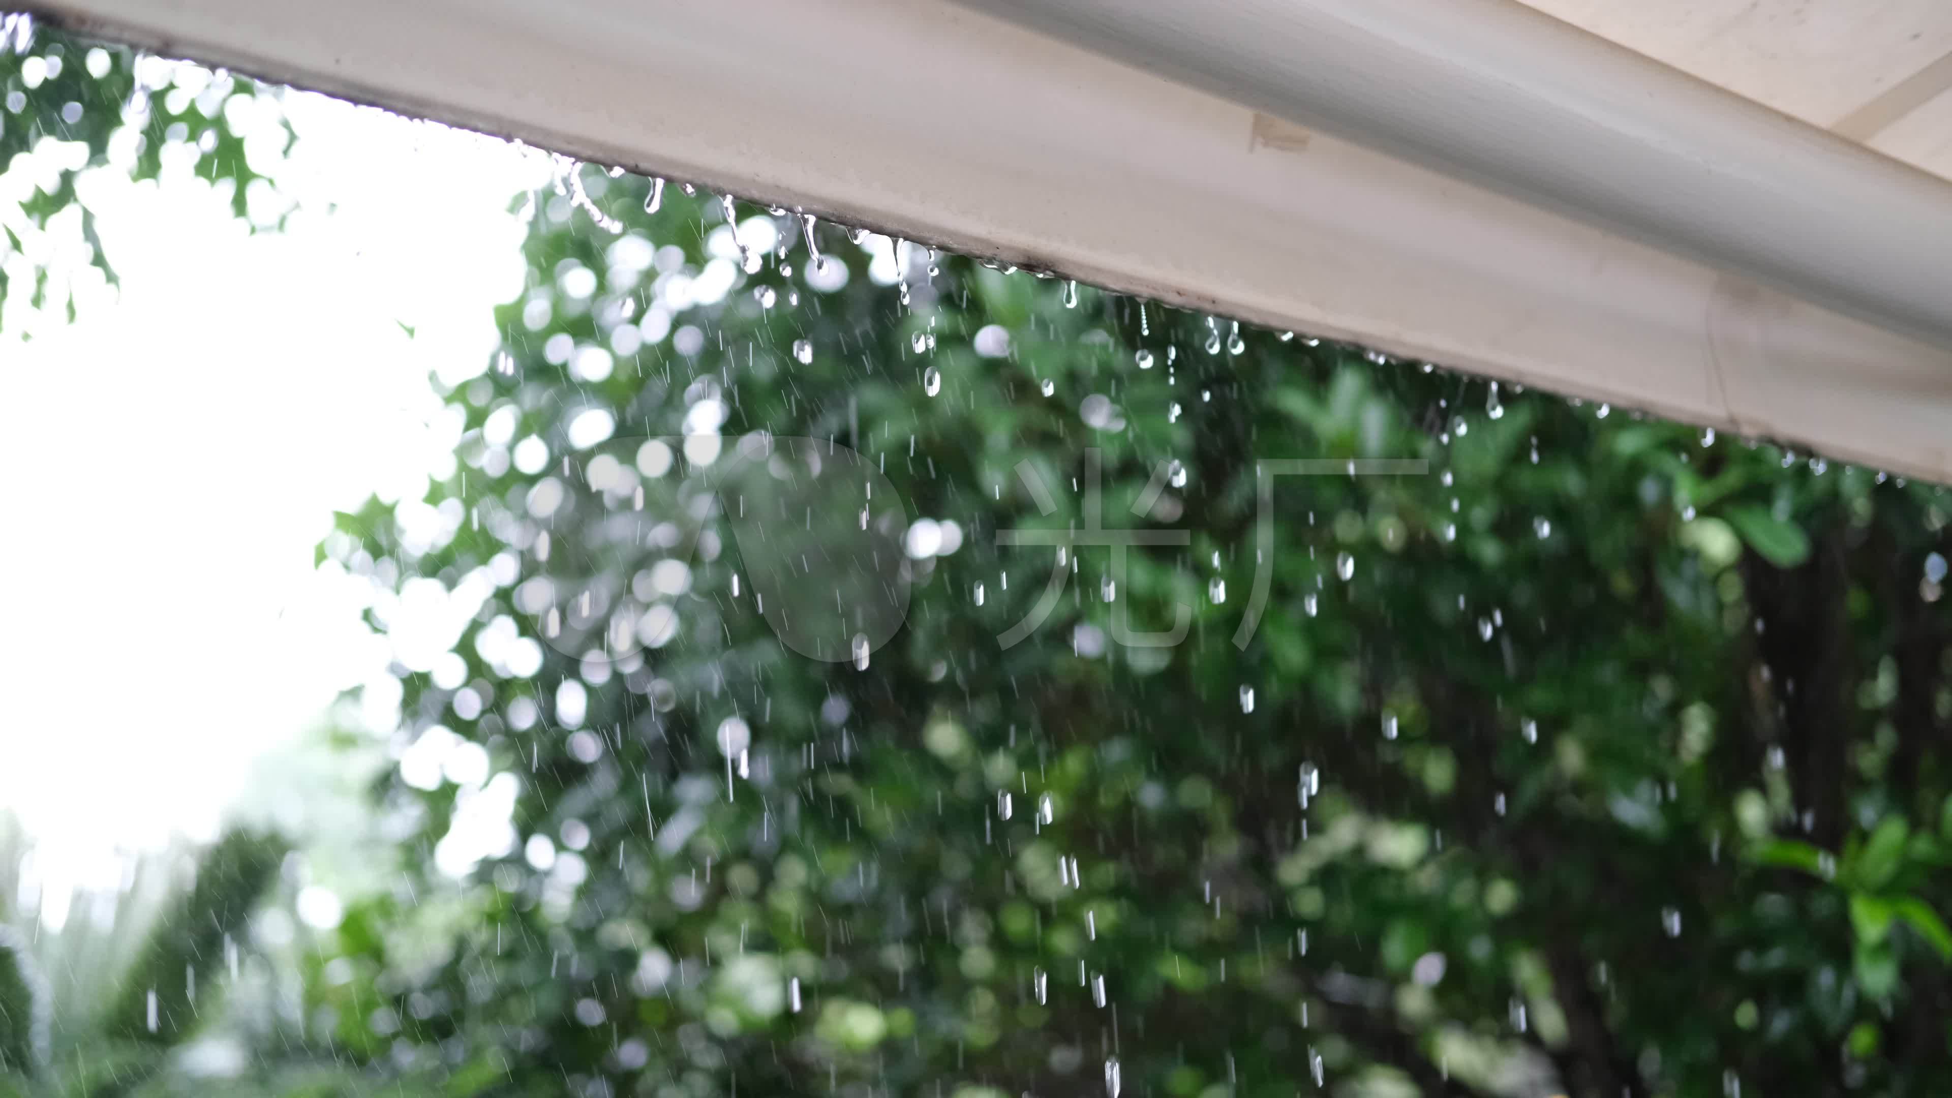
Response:
[[[832,287],[746,203],[738,272],[718,199],[580,184],[623,232],[541,195],[453,475],[322,547],[381,629],[467,592],[396,748],[447,729],[519,781],[412,961],[476,793],[381,789],[416,883],[312,981],[342,1049],[449,1094],[1952,1086],[1936,486],[921,248],[890,285],[818,225]],[[956,524],[865,668],[785,653],[736,502],[636,457],[711,402],[726,447],[855,445]],[[591,408],[617,436],[572,442]],[[996,535],[1081,528],[1089,449],[1105,528],[1189,545],[1079,547],[1003,647],[1052,549]],[[1290,457],[1429,473],[1277,477],[1261,516]],[[1109,641],[1175,604],[1181,645]],[[617,658],[578,613],[677,625]]]

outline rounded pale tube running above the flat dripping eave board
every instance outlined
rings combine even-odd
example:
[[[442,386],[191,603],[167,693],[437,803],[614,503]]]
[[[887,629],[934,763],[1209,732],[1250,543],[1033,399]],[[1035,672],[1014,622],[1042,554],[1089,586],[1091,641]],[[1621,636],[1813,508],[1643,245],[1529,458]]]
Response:
[[[1952,184],[1517,0],[964,0],[1952,346]]]

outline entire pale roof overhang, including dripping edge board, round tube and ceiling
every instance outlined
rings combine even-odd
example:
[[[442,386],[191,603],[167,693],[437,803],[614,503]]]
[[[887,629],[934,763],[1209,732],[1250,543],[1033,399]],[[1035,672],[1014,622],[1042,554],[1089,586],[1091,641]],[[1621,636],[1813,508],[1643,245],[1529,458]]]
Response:
[[[1952,481],[1952,2],[1530,2],[1644,57],[1517,0],[29,0],[603,164]],[[1259,53],[1271,80],[1325,80],[1345,123],[1523,162],[1560,201],[1042,31],[1037,8],[1113,31],[1165,12],[1167,47],[1232,20],[1247,33],[1206,41],[1222,76]],[[1638,223],[1583,215],[1579,188]],[[1690,246],[1757,211],[1747,258],[1813,277]],[[1878,295],[1938,322],[1852,307]]]

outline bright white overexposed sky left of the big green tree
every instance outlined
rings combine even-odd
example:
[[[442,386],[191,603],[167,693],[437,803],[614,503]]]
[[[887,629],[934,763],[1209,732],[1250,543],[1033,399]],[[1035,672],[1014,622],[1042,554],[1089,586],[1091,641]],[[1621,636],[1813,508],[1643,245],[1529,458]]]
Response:
[[[96,172],[119,301],[0,334],[0,809],[76,867],[213,834],[256,758],[383,666],[363,584],[312,549],[332,510],[424,490],[453,443],[427,375],[476,373],[521,289],[508,207],[547,158],[318,96],[285,111],[283,232],[195,180]]]

